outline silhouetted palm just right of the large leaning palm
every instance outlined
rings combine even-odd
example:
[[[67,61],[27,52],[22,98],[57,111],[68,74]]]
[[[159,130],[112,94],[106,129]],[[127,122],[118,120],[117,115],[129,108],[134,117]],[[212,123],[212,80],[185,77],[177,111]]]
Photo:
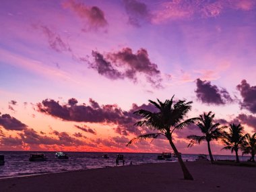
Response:
[[[212,151],[210,148],[210,141],[218,140],[222,135],[222,128],[219,127],[220,123],[214,123],[215,114],[212,114],[212,111],[203,115],[199,115],[199,122],[197,123],[197,127],[199,127],[200,131],[203,135],[189,135],[188,139],[191,139],[189,146],[192,147],[195,143],[201,143],[201,141],[207,141],[207,147],[211,162],[214,162],[214,158],[212,156]]]

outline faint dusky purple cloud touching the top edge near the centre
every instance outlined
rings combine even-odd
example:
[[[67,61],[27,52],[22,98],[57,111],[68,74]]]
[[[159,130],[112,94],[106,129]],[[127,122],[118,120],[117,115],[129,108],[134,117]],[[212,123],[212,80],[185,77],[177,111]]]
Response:
[[[141,22],[150,22],[152,14],[145,3],[136,0],[123,0],[125,11],[129,16],[129,24],[141,26]]]

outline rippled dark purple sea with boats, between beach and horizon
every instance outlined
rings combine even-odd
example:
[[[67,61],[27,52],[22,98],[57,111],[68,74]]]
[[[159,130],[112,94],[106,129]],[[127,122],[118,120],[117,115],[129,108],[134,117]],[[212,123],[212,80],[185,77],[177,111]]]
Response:
[[[0,152],[5,156],[5,165],[0,166],[0,177],[15,177],[30,174],[42,174],[47,172],[64,172],[69,170],[84,170],[115,166],[118,153],[108,153],[108,159],[102,158],[103,153],[98,152],[67,152],[68,160],[55,158],[55,152],[42,152],[46,154],[45,162],[30,162],[28,160],[32,152]],[[158,154],[123,153],[125,164],[145,164],[166,162],[157,160]],[[195,161],[197,154],[182,154],[183,160]],[[235,160],[235,156],[214,156],[215,159]],[[248,160],[248,156],[241,156],[241,160]],[[174,161],[175,158],[174,158]],[[170,162],[170,161],[168,161]],[[171,162],[170,162],[171,163]],[[122,163],[121,163],[122,164]],[[122,165],[119,165],[122,166]]]

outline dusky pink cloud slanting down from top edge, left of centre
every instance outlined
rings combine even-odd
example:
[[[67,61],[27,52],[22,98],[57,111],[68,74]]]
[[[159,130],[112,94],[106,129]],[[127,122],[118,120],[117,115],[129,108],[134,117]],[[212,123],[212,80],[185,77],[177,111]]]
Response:
[[[108,26],[104,12],[96,6],[87,6],[84,3],[76,3],[74,0],[69,0],[63,3],[63,7],[71,9],[79,18],[85,21],[86,26],[84,31],[98,30]]]

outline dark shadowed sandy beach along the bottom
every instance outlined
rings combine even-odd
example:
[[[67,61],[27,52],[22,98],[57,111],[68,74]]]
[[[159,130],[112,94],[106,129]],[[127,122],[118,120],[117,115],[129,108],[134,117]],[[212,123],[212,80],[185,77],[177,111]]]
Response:
[[[0,179],[3,191],[255,191],[256,168],[185,162],[140,164]]]

